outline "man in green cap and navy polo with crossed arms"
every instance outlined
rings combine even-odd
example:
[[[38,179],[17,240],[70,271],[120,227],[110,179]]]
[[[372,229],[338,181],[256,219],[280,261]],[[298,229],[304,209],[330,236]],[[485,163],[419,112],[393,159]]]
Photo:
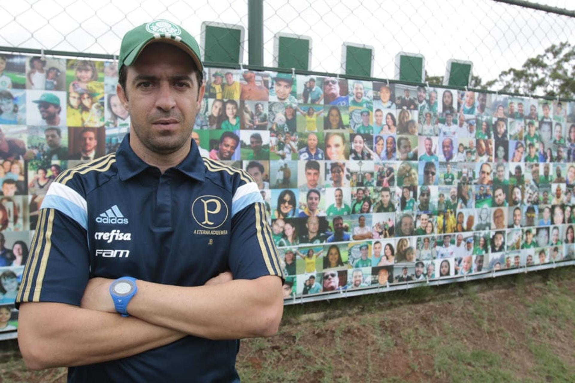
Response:
[[[68,381],[239,381],[239,338],[277,332],[282,272],[258,186],[200,156],[196,40],[156,20],[122,39],[131,133],[64,171],[39,214],[16,299],[32,369]]]

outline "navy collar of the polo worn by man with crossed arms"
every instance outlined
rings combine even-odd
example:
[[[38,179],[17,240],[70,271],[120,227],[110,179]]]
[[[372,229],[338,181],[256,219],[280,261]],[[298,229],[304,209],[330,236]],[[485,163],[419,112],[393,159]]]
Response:
[[[116,152],[116,165],[118,167],[118,176],[122,181],[136,176],[147,168],[152,168],[151,165],[146,164],[133,152],[130,146],[129,133],[126,134],[120,144],[120,148]],[[186,176],[198,181],[203,182],[205,180],[206,167],[194,140],[191,140],[191,149],[186,158],[173,169],[177,169]]]

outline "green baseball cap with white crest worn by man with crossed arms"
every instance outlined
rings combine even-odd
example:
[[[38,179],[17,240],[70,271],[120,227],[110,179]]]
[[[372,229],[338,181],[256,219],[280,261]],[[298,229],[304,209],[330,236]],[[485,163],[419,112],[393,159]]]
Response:
[[[200,47],[195,38],[185,29],[168,20],[154,20],[129,30],[122,38],[120,47],[120,67],[132,65],[142,49],[152,42],[175,45],[186,52],[196,63],[198,71],[204,70],[200,58]]]

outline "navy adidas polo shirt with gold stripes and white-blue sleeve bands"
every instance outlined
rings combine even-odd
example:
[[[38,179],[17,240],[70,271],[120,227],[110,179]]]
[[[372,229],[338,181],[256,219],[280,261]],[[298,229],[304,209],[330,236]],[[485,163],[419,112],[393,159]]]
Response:
[[[163,174],[132,151],[62,172],[41,206],[17,304],[80,305],[91,277],[200,286],[282,276],[258,185],[244,171],[190,153]],[[214,318],[217,320],[217,318]],[[186,336],[132,357],[71,367],[68,381],[239,380],[239,341]]]

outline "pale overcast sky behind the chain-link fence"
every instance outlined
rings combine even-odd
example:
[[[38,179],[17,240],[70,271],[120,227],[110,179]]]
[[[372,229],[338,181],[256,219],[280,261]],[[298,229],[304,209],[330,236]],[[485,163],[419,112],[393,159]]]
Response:
[[[538,3],[575,9],[573,0]],[[0,45],[118,54],[121,36],[135,25],[167,18],[200,39],[202,21],[246,28],[247,1],[0,2]],[[373,75],[393,78],[394,56],[425,56],[431,75],[443,75],[448,59],[470,60],[484,80],[519,67],[560,41],[575,41],[575,18],[506,5],[493,0],[264,1],[264,65],[272,66],[277,32],[312,38],[310,69],[340,72],[342,43],[374,47]]]

